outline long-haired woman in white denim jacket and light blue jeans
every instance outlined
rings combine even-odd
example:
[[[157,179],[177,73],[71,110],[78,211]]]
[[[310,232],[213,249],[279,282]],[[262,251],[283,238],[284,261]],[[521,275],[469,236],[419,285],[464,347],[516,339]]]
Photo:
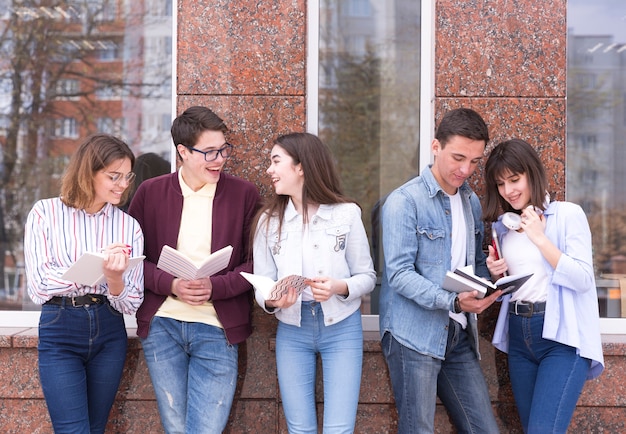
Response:
[[[278,318],[276,365],[290,433],[317,433],[316,360],[322,360],[324,433],[352,433],[361,383],[361,297],[376,273],[361,209],[340,188],[330,151],[308,133],[279,137],[267,169],[276,195],[253,229],[254,273],[304,276],[278,300],[255,290]]]

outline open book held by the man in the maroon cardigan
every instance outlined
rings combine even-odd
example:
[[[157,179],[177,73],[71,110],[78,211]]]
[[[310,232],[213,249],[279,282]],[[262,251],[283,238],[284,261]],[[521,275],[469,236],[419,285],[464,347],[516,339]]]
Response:
[[[161,249],[161,256],[157,268],[167,271],[172,276],[185,280],[202,279],[222,271],[228,266],[233,247],[226,246],[211,253],[201,264],[196,265],[188,256],[178,250],[165,245]]]

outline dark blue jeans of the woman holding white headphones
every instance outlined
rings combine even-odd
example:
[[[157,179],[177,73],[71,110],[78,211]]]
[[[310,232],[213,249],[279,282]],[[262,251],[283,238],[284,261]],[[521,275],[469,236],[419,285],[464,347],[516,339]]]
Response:
[[[543,339],[543,318],[509,315],[509,376],[524,432],[565,433],[591,362]]]

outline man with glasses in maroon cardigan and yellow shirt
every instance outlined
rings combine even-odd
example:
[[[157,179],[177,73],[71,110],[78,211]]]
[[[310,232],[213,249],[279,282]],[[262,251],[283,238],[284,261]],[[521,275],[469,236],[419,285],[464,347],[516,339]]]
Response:
[[[185,110],[172,124],[179,170],[144,181],[129,207],[146,238],[137,334],[167,433],[224,430],[238,344],[252,332],[252,287],[239,272],[252,272],[249,231],[260,196],[223,172],[233,149],[227,130],[208,108]],[[233,253],[217,274],[184,280],[157,268],[164,245],[196,262],[228,245]]]

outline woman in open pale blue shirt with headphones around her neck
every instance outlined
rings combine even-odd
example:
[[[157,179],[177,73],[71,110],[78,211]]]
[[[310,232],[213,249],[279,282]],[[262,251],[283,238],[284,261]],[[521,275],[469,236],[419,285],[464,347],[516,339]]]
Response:
[[[580,206],[546,200],[545,169],[523,140],[491,151],[485,179],[485,219],[497,219],[502,247],[502,258],[489,247],[492,277],[533,273],[502,297],[493,344],[508,353],[524,432],[565,433],[585,380],[604,368],[589,224]]]

